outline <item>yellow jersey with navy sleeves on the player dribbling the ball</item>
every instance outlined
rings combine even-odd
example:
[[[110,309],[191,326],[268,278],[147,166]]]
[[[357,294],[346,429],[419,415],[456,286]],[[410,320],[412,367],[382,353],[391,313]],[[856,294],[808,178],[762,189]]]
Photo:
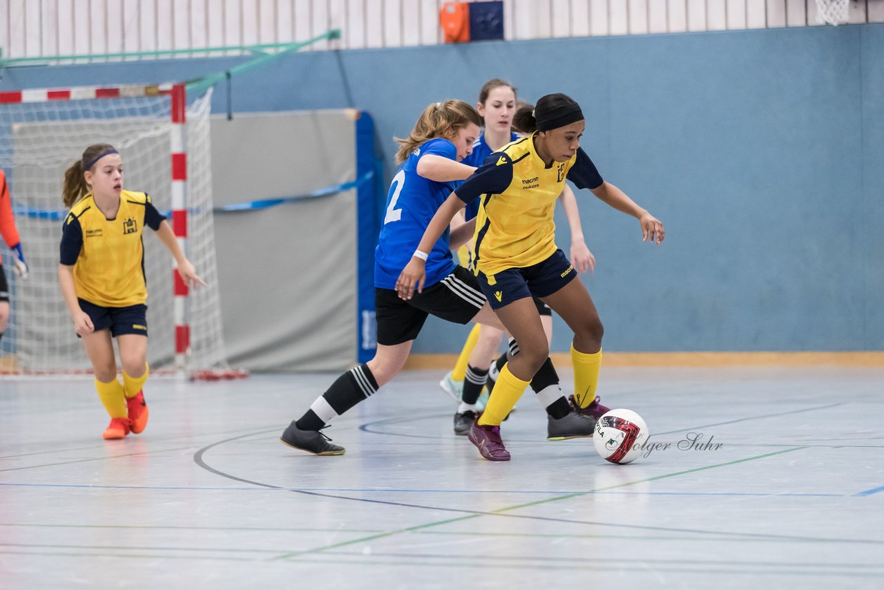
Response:
[[[555,253],[556,199],[565,179],[577,188],[598,188],[603,180],[583,149],[567,162],[547,167],[537,156],[534,135],[494,152],[455,194],[465,203],[481,197],[473,237],[475,272],[493,276],[525,268]]]

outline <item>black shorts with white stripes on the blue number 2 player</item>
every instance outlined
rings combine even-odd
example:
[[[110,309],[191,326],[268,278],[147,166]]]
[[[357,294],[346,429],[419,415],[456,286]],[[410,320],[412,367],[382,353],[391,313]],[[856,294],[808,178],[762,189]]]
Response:
[[[435,285],[424,287],[423,293],[415,291],[408,301],[392,289],[375,287],[377,343],[394,346],[415,340],[430,314],[455,324],[468,324],[484,304],[476,277],[462,266]]]

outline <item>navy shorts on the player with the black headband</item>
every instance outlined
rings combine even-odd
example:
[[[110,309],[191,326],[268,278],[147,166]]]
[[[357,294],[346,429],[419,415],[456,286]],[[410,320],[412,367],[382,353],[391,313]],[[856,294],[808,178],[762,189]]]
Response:
[[[525,297],[546,297],[575,279],[577,272],[560,249],[526,268],[509,268],[489,277],[479,272],[479,287],[497,310]]]

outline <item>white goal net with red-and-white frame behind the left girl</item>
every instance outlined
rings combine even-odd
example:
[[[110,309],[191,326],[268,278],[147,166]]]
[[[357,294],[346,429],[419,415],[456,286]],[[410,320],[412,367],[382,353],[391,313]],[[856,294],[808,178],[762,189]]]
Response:
[[[61,227],[67,212],[61,199],[62,178],[65,169],[92,143],[110,143],[119,150],[124,188],[149,193],[170,223],[172,153],[187,152],[187,238],[179,241],[185,244],[187,257],[209,287],[190,291],[186,303],[175,297],[174,261],[153,232],[145,232],[148,360],[151,369],[160,372],[228,368],[212,225],[211,91],[189,98],[185,145],[179,146],[173,145],[181,142],[182,134],[180,125],[173,129],[168,88],[0,93],[0,167],[9,180],[16,225],[30,266],[27,280],[19,279],[12,272],[11,253],[3,250],[11,301],[9,326],[0,341],[0,372],[70,374],[91,370],[65,308],[57,268]],[[178,230],[176,234],[181,235]],[[189,344],[184,351],[182,330]]]

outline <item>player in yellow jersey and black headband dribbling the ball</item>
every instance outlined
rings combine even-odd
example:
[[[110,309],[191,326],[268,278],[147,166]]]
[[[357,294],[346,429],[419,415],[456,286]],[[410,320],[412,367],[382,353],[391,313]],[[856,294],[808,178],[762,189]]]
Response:
[[[508,461],[500,422],[549,356],[543,325],[532,295],[552,307],[574,331],[571,360],[575,399],[581,409],[596,399],[603,328],[583,281],[554,241],[552,211],[565,179],[589,188],[599,200],[639,221],[644,241],[661,243],[663,225],[613,184],[602,180],[583,149],[585,121],[580,106],[562,94],[543,96],[537,107],[515,114],[515,125],[533,132],[492,154],[456,188],[433,216],[418,245],[438,239],[466,203],[481,196],[476,219],[475,266],[479,284],[500,321],[519,343],[501,369],[482,416],[469,440],[486,459]],[[414,257],[400,274],[396,290],[409,301],[424,285],[424,262]]]

